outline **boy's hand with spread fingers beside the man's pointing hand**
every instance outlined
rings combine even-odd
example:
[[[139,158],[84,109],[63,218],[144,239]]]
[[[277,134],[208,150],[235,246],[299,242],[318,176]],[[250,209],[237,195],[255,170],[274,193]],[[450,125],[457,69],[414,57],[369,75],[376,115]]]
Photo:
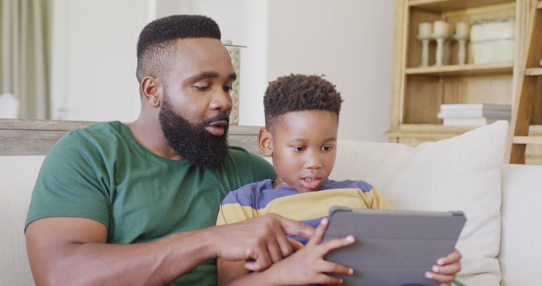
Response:
[[[322,243],[322,237],[328,223],[327,218],[322,219],[314,236],[308,240],[304,248],[273,264],[267,270],[268,277],[277,285],[306,285],[343,283],[343,279],[332,277],[326,273],[352,275],[354,272],[352,268],[324,260],[324,256],[331,250],[354,242],[353,236],[347,236]]]

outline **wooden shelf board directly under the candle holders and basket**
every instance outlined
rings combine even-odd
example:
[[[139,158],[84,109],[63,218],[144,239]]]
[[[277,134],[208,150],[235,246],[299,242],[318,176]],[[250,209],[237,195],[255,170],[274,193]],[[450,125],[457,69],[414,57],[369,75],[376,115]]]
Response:
[[[514,69],[513,62],[506,63],[490,63],[490,64],[450,64],[449,66],[440,67],[417,67],[406,68],[406,75],[470,75],[470,74],[512,74]]]

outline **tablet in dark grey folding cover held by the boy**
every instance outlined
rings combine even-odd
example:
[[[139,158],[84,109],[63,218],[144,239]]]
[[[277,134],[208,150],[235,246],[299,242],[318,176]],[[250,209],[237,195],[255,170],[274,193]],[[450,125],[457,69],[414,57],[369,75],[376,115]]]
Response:
[[[455,243],[465,216],[460,211],[388,211],[333,206],[324,241],[353,235],[356,241],[325,256],[354,269],[343,285],[439,285],[425,278]]]

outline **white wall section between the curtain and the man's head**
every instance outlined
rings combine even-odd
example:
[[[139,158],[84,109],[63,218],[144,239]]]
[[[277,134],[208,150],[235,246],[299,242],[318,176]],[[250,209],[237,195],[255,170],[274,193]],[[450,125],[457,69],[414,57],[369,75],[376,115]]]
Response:
[[[54,1],[53,119],[137,118],[135,46],[149,21],[148,4],[147,0]]]

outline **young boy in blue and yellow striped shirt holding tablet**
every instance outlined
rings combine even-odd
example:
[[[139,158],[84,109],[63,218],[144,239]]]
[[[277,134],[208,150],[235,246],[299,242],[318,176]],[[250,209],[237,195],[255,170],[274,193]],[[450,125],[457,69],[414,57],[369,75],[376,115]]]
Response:
[[[266,128],[258,138],[260,151],[273,157],[277,177],[249,184],[228,193],[220,205],[217,225],[231,224],[266,213],[300,220],[317,227],[306,244],[293,255],[261,272],[249,273],[245,262],[218,259],[218,283],[231,285],[340,284],[327,273],[352,275],[344,265],[324,261],[324,255],[351,244],[353,237],[321,243],[331,206],[391,209],[379,192],[364,181],[332,181],[337,128],[343,100],[334,86],[316,75],[289,75],[269,83],[264,96]],[[425,275],[449,283],[459,271],[459,252],[438,259]],[[249,262],[247,262],[249,263]]]

